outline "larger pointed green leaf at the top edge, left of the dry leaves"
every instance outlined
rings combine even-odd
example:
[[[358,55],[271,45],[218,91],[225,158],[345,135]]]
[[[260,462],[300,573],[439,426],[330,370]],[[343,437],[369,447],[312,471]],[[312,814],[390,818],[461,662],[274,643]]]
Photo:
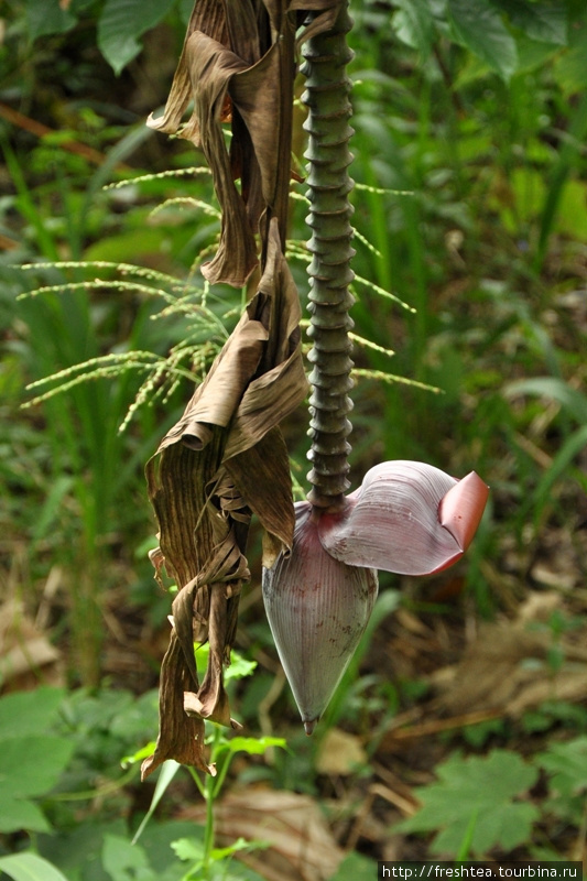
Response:
[[[98,47],[119,74],[141,51],[139,37],[166,15],[174,0],[107,0],[98,21]]]

